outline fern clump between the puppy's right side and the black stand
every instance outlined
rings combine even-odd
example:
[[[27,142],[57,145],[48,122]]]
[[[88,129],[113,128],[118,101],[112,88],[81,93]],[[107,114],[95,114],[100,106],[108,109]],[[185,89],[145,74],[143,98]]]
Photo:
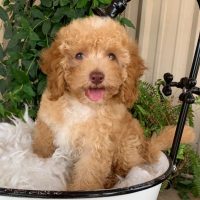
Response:
[[[139,98],[131,109],[133,116],[139,119],[143,126],[146,137],[159,132],[167,125],[175,125],[178,120],[180,104],[173,106],[171,100],[160,93],[161,84],[160,81],[155,86],[140,82]]]

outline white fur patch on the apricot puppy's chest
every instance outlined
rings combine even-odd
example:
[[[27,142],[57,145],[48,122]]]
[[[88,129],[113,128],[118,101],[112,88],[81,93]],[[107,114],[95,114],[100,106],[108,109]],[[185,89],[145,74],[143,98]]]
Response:
[[[62,123],[53,126],[54,144],[57,147],[72,149],[74,143],[87,132],[84,125],[96,116],[96,112],[78,101],[70,101],[68,107],[63,109],[62,115]]]

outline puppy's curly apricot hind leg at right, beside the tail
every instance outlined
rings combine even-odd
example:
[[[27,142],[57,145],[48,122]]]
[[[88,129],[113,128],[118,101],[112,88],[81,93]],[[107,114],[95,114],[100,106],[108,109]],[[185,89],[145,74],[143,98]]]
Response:
[[[148,148],[143,129],[136,119],[126,119],[121,126],[121,137],[118,140],[114,155],[114,172],[125,177],[129,170],[145,162],[143,152]]]

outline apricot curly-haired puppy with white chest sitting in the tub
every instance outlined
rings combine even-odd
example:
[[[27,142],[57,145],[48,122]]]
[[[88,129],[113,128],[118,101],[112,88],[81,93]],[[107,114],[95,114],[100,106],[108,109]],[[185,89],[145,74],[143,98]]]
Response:
[[[41,55],[48,85],[34,134],[34,152],[52,155],[56,147],[72,153],[68,190],[108,188],[115,175],[155,162],[172,143],[175,127],[146,140],[127,108],[137,99],[145,66],[124,27],[110,18],[74,20],[62,28]],[[193,140],[186,128],[184,141]],[[184,142],[183,141],[183,142]]]

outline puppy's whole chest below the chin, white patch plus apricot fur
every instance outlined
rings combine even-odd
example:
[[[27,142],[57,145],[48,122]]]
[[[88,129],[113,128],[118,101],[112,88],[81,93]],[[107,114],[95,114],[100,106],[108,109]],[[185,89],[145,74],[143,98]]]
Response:
[[[55,117],[51,113],[57,105],[60,105],[60,113]],[[42,112],[40,117],[54,133],[54,145],[74,151],[93,141],[110,140],[124,112],[125,109],[120,105],[94,108],[67,98],[62,103],[52,105],[51,110]],[[61,120],[58,120],[59,115]]]

